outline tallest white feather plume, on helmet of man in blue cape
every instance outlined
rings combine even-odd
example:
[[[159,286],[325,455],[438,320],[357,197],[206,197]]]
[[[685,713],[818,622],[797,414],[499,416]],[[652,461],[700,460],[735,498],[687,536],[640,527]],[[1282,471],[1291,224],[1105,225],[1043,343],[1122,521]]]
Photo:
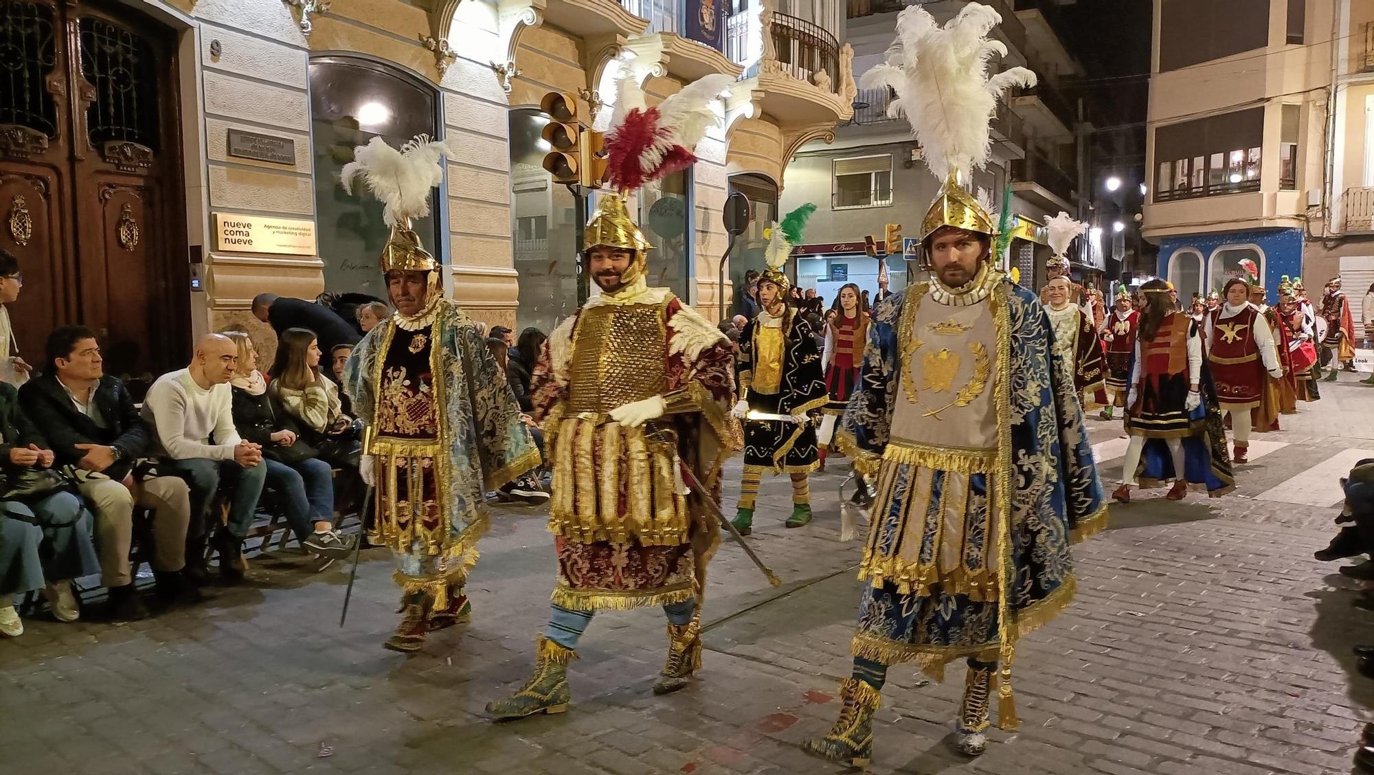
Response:
[[[888,115],[907,117],[926,165],[941,180],[951,170],[967,175],[988,164],[988,121],[998,99],[1011,87],[1036,84],[1025,67],[988,77],[993,55],[1007,54],[1002,41],[988,38],[1000,21],[988,5],[969,3],[941,27],[925,8],[911,5],[897,16],[886,62],[863,74],[861,88],[896,91]]]

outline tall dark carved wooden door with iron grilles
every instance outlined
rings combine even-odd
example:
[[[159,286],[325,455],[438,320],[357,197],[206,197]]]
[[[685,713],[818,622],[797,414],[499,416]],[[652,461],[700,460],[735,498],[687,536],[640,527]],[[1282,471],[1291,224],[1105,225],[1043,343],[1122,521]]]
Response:
[[[82,323],[140,394],[187,359],[174,40],[125,8],[0,0],[0,247],[25,287],[10,313],[37,366]]]

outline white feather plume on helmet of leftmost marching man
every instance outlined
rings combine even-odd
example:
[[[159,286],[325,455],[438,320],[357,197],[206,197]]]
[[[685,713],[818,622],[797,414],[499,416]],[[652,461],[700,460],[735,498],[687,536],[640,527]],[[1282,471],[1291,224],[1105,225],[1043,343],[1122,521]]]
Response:
[[[353,161],[344,165],[339,183],[352,194],[354,180],[361,177],[367,190],[382,202],[386,225],[423,218],[429,214],[430,190],[444,181],[440,159],[451,153],[447,144],[430,140],[429,135],[416,136],[400,150],[382,137],[372,137],[365,146],[353,148]]]

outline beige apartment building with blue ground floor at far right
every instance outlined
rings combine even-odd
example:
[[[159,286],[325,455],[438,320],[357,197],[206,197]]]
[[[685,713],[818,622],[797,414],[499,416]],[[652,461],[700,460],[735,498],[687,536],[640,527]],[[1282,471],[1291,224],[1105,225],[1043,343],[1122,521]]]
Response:
[[[1374,5],[1156,0],[1147,239],[1180,295],[1374,280]],[[1353,284],[1352,284],[1353,283]],[[1358,291],[1356,293],[1356,286]],[[1359,315],[1356,315],[1359,317]]]

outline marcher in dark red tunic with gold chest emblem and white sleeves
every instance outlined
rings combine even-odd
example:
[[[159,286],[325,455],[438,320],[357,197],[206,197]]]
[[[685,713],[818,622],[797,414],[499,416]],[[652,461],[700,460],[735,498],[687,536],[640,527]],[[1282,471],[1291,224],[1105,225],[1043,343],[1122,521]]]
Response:
[[[1242,261],[1242,267],[1243,264]],[[1249,301],[1250,284],[1242,278],[1231,278],[1223,291],[1226,304],[1209,313],[1205,323],[1206,360],[1212,368],[1217,403],[1231,416],[1235,445],[1231,462],[1248,463],[1250,411],[1264,397],[1265,372],[1274,379],[1282,379],[1283,367],[1274,349],[1268,322]]]

